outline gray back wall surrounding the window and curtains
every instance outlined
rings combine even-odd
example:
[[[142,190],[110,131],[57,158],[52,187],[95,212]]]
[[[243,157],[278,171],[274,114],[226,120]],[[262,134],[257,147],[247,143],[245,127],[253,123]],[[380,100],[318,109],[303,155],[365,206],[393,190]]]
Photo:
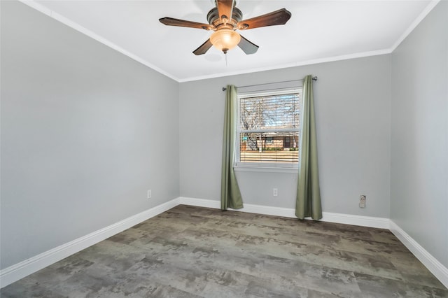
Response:
[[[390,206],[391,55],[181,83],[181,196],[219,200],[221,87],[318,76],[314,99],[323,211],[381,218]],[[295,207],[295,173],[237,173],[246,204]],[[272,196],[272,187],[279,196]],[[360,194],[367,208],[359,208]]]

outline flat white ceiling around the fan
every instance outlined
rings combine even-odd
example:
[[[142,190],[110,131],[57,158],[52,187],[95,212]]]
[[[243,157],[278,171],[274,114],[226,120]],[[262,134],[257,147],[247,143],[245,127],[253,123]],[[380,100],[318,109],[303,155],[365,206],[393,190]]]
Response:
[[[241,32],[260,46],[224,55],[192,52],[210,31],[161,24],[160,17],[207,23],[213,0],[24,1],[179,82],[391,52],[437,1],[239,0],[244,19],[286,8],[285,25]]]

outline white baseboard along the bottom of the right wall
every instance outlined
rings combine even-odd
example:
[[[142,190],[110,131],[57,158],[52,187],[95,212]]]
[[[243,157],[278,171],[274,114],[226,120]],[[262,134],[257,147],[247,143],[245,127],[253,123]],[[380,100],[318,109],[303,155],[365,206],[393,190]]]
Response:
[[[448,268],[437,261],[433,255],[428,253],[419,243],[409,236],[403,229],[398,227],[393,220],[391,222],[391,232],[411,251],[420,262],[425,265],[434,276],[448,288]]]

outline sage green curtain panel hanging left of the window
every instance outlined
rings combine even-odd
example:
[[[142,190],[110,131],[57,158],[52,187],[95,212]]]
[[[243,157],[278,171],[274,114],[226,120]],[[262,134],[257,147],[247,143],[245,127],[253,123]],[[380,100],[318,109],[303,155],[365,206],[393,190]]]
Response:
[[[237,87],[227,86],[225,94],[223,166],[221,169],[221,210],[243,208],[243,199],[233,170],[237,134]]]

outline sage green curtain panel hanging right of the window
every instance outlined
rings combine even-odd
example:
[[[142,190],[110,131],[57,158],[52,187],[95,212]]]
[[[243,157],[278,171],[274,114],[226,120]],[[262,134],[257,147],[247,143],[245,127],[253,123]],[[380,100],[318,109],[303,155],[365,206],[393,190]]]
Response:
[[[303,80],[302,126],[300,130],[299,177],[295,216],[322,218],[321,191],[317,166],[316,120],[314,116],[313,80],[311,75]]]

